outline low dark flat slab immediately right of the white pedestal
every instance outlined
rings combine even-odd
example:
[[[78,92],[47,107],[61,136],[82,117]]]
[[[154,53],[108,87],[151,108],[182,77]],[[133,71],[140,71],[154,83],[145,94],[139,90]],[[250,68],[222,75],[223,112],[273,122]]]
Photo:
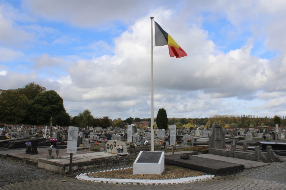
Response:
[[[203,158],[198,157],[197,155],[190,156],[188,160],[183,160],[180,159],[180,156],[182,155],[186,154],[165,155],[165,163],[187,167],[190,169],[195,169],[216,175],[228,175],[244,169],[244,165],[242,164]]]

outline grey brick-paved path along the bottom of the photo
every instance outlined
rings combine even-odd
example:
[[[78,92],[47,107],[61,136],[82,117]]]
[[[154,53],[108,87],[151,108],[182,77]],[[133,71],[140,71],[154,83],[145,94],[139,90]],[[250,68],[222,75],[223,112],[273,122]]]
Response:
[[[62,182],[66,180],[66,182]],[[82,190],[82,189],[96,189],[96,190],[149,190],[149,189],[192,189],[192,190],[284,190],[285,184],[278,183],[275,181],[263,181],[259,179],[250,179],[242,176],[232,176],[220,180],[207,180],[198,181],[193,183],[185,183],[178,185],[121,185],[113,183],[98,183],[91,181],[80,181],[73,178],[62,178],[62,179],[46,179],[46,180],[35,180],[15,183],[0,187],[0,189],[7,190]]]

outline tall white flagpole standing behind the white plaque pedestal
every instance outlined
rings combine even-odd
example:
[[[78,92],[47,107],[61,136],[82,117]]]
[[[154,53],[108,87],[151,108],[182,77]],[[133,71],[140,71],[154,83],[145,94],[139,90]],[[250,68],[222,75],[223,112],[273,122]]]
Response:
[[[151,151],[154,151],[154,98],[153,98],[153,19],[151,19]]]

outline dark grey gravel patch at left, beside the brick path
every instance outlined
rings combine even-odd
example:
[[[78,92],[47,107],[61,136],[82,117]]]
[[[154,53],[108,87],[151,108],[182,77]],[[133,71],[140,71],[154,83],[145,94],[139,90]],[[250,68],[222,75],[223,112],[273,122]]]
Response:
[[[60,177],[66,175],[0,157],[0,187],[23,181]]]

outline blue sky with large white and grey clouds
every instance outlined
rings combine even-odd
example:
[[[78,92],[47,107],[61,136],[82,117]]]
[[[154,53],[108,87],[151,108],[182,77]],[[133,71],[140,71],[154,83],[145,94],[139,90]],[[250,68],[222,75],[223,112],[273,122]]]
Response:
[[[286,1],[0,1],[0,89],[35,82],[72,115],[151,117],[150,17],[188,54],[154,47],[154,117],[286,111]]]

